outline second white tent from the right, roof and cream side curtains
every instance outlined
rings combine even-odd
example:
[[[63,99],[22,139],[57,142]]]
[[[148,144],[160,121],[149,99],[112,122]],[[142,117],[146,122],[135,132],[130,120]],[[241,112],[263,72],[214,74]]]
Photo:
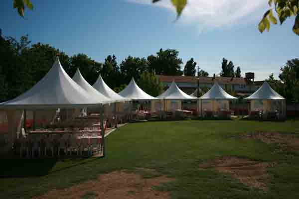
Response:
[[[213,87],[199,98],[200,105],[198,105],[198,107],[200,108],[200,112],[204,110],[213,112],[213,114],[219,114],[221,111],[229,111],[229,100],[236,99],[238,98],[226,93],[220,85],[215,82]]]

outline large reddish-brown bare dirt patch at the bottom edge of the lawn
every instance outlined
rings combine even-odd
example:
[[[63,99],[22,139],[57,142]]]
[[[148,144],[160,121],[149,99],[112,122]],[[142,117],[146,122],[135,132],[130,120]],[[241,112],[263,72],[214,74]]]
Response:
[[[152,187],[170,181],[173,179],[165,176],[149,179],[128,171],[116,171],[68,189],[50,191],[35,199],[169,199],[168,192]]]

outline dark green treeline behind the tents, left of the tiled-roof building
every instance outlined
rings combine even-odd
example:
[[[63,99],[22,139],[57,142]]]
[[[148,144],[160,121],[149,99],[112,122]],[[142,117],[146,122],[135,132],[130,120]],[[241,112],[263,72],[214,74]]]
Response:
[[[157,95],[163,88],[154,74],[183,74],[182,59],[178,57],[178,51],[173,49],[160,49],[156,55],[147,58],[128,56],[120,64],[115,55],[108,55],[104,63],[100,63],[83,53],[68,56],[49,44],[32,44],[27,35],[17,40],[3,36],[0,31],[0,101],[13,99],[30,89],[49,71],[56,55],[70,77],[79,68],[83,77],[92,85],[101,74],[108,86],[117,92],[134,77],[145,87],[142,89]],[[185,70],[188,75],[195,75],[196,63],[194,65],[193,62],[193,59],[188,62],[193,64]]]

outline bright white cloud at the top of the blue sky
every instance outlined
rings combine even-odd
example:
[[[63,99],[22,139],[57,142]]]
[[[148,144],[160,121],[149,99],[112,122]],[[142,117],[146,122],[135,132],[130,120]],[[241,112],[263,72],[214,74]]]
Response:
[[[152,0],[127,0],[129,2],[165,7],[175,12],[170,0],[151,3]],[[222,27],[261,18],[267,0],[188,0],[179,21],[197,22],[201,27]],[[258,11],[259,10],[259,11]],[[265,10],[265,9],[262,9]]]

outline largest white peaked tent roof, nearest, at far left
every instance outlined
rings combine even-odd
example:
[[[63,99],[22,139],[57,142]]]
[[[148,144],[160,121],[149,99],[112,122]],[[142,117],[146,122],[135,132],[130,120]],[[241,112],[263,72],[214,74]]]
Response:
[[[103,104],[76,84],[63,70],[58,57],[49,72],[31,89],[0,108],[87,107]]]

